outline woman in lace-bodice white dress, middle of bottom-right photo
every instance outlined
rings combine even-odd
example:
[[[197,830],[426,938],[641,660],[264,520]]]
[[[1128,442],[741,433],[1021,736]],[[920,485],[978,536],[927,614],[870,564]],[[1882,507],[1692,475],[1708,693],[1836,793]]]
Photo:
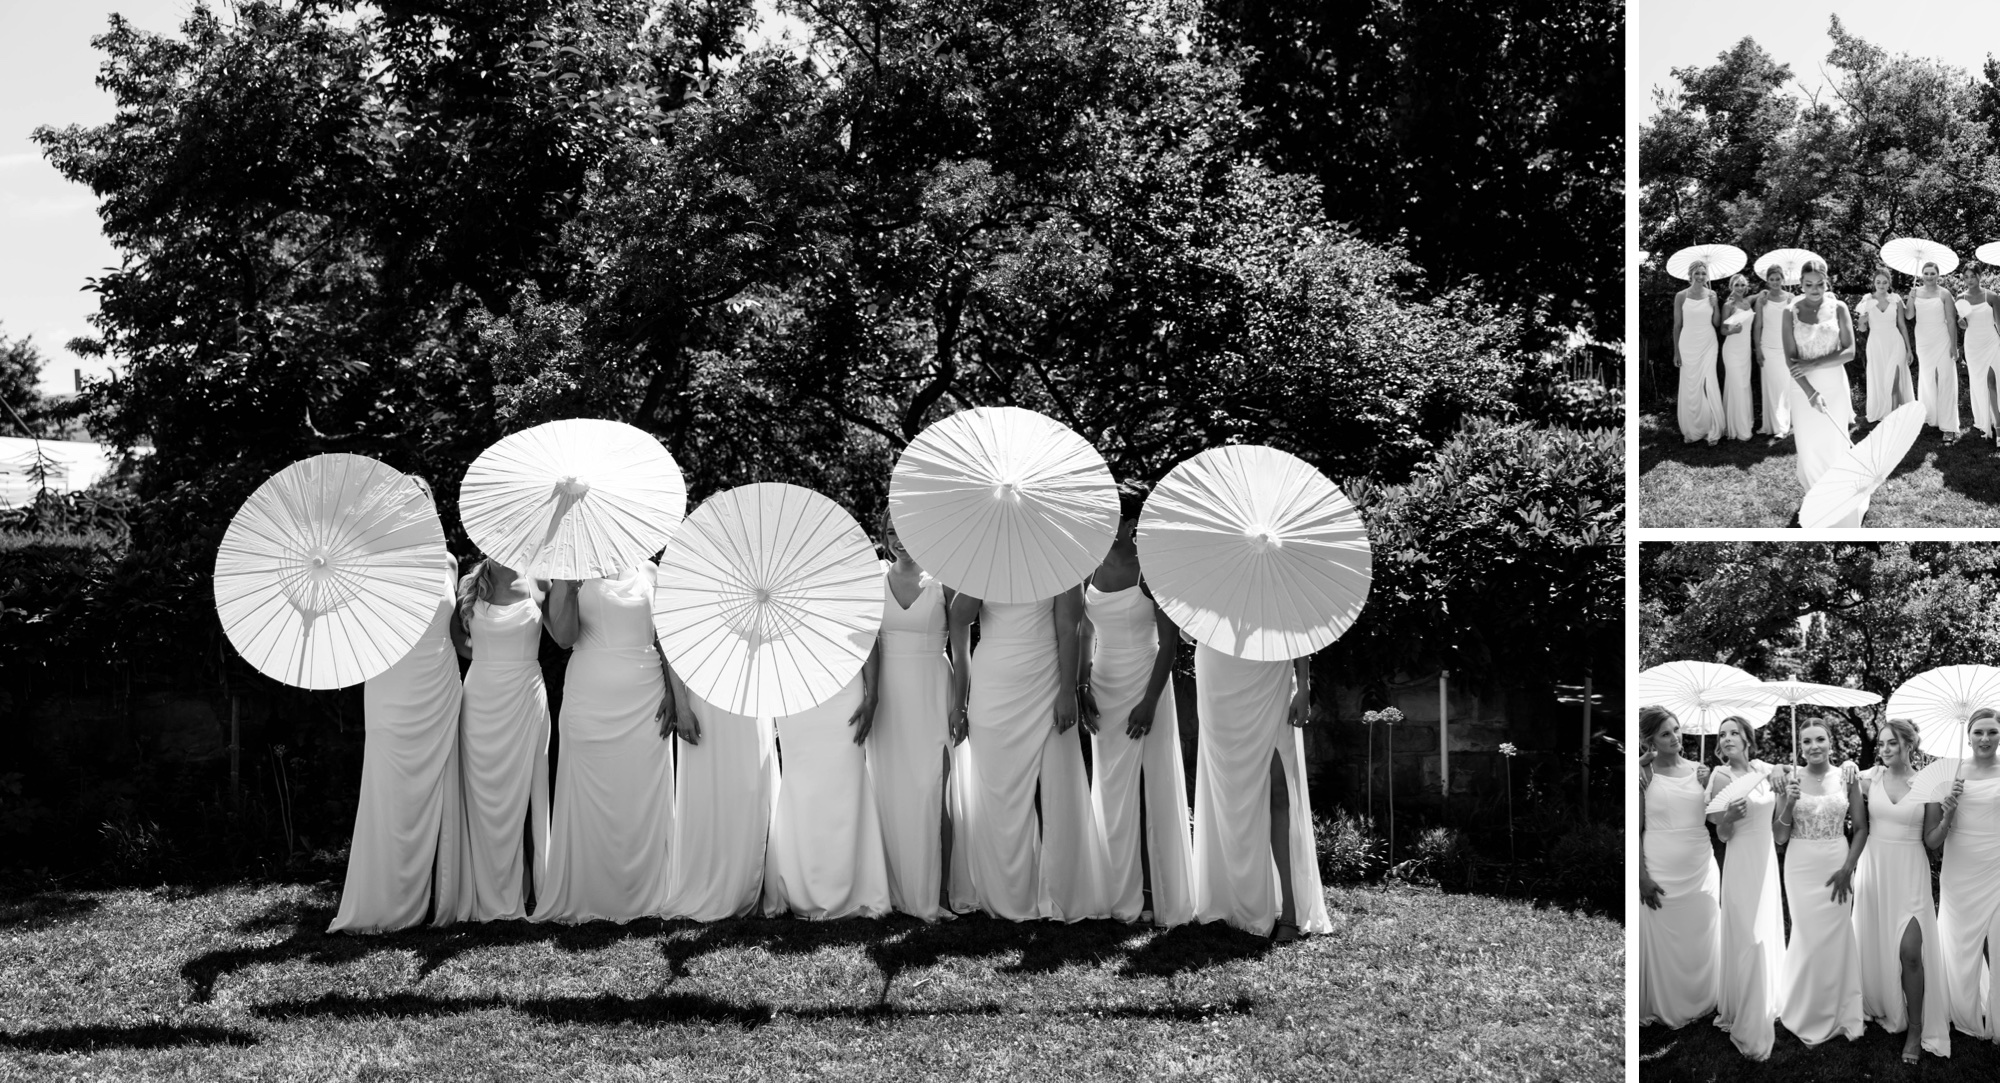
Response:
[[[1854,865],[1868,845],[1868,807],[1860,779],[1844,781],[1834,769],[1832,729],[1808,721],[1798,731],[1806,765],[1794,769],[1778,797],[1778,833],[1784,851],[1784,899],[1792,941],[1784,949],[1778,981],[1778,1017],[1806,1045],[1840,1035],[1862,1037],[1862,971],[1854,943]],[[1848,839],[1848,813],[1854,839]]]

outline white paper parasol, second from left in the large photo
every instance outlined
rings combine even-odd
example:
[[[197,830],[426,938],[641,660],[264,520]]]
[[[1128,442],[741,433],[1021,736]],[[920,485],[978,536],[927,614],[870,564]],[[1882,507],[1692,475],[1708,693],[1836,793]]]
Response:
[[[652,436],[594,418],[548,422],[480,452],[458,488],[466,536],[522,575],[596,579],[650,557],[688,506]]]

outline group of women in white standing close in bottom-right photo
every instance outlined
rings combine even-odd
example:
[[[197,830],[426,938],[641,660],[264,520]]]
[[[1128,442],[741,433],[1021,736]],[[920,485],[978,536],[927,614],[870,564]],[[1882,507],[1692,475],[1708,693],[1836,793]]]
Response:
[[[2000,1041],[1988,955],[2000,947],[2000,709],[1970,717],[1972,757],[1936,801],[1912,799],[1916,727],[1876,729],[1878,763],[1834,767],[1830,723],[1798,731],[1798,767],[1756,759],[1728,717],[1714,769],[1680,755],[1680,723],[1640,711],[1640,1023],[1714,1023],[1766,1059],[1784,1023],[1806,1045],[1904,1035],[1902,1059],[1952,1053],[1952,1027]],[[1748,795],[1706,809],[1734,781]],[[1708,825],[1724,845],[1718,869]],[[1778,851],[1784,849],[1780,885]],[[1930,853],[1938,851],[1932,897]],[[1780,911],[1780,905],[1784,911]],[[1790,939],[1784,917],[1790,915]]]

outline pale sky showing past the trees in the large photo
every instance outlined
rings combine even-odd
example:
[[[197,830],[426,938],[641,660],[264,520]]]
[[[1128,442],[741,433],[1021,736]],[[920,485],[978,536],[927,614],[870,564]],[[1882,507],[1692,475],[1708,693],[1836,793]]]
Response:
[[[766,32],[802,34],[796,20],[774,20],[768,0],[758,6]],[[86,316],[96,296],[84,286],[118,254],[98,234],[96,196],[62,180],[28,136],[38,124],[112,118],[112,98],[94,82],[104,56],[90,48],[112,12],[172,34],[194,8],[194,0],[0,0],[0,334],[34,338],[44,392],[74,390],[76,370],[104,376],[106,362],[76,358],[64,344],[92,334]]]

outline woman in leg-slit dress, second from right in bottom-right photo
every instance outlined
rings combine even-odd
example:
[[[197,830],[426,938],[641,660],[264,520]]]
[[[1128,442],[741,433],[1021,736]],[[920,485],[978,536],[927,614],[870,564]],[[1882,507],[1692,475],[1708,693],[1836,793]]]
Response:
[[[1952,1013],[1944,1003],[1938,907],[1930,899],[1924,809],[1910,801],[1916,727],[1892,717],[1876,731],[1876,767],[1862,783],[1868,849],[1854,871],[1854,939],[1860,947],[1862,1013],[1904,1035],[1902,1059],[1920,1049],[1952,1055]]]

